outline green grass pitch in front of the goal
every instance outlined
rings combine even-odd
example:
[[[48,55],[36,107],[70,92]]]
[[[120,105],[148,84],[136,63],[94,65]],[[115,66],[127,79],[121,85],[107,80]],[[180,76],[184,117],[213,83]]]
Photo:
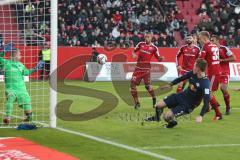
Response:
[[[112,83],[97,82],[67,82],[75,86],[84,86],[107,91],[117,95]],[[231,83],[229,88],[239,88],[240,83]],[[155,87],[156,88],[156,87]],[[141,87],[139,90],[144,90]],[[125,91],[126,93],[128,90]],[[175,88],[172,90],[175,92]],[[158,96],[158,100],[171,92]],[[37,93],[33,93],[37,94]],[[58,127],[67,128],[74,131],[87,133],[93,136],[111,140],[114,142],[127,144],[137,148],[169,156],[179,160],[237,160],[239,159],[240,147],[206,147],[206,148],[182,148],[182,149],[158,149],[161,146],[195,146],[205,144],[240,144],[240,109],[239,92],[230,91],[231,106],[234,108],[230,116],[224,116],[222,121],[213,122],[214,112],[206,114],[201,124],[195,123],[195,117],[199,114],[200,108],[196,109],[190,117],[179,120],[179,125],[174,129],[165,129],[160,123],[144,123],[141,125],[141,118],[152,112],[152,102],[150,98],[141,98],[142,108],[135,111],[132,106],[128,106],[119,98],[118,106],[110,113],[82,122],[70,122],[58,120]],[[127,95],[128,96],[128,95]],[[81,113],[94,109],[101,100],[59,94],[59,100],[69,98],[74,101],[71,106],[72,113]],[[130,99],[131,97],[129,97]],[[217,99],[224,105],[220,92]],[[109,99],[111,101],[111,99]],[[47,106],[46,106],[47,107]],[[225,107],[221,107],[225,111]],[[139,112],[139,113],[138,113]],[[131,115],[131,116],[130,116]],[[140,118],[138,118],[140,116]],[[39,144],[55,148],[59,151],[69,153],[82,160],[151,160],[155,159],[136,152],[127,151],[111,145],[99,143],[76,135],[56,131],[54,129],[43,128],[37,131],[16,131],[14,129],[0,129],[0,137],[14,136],[24,137]],[[156,147],[156,148],[155,148]]]

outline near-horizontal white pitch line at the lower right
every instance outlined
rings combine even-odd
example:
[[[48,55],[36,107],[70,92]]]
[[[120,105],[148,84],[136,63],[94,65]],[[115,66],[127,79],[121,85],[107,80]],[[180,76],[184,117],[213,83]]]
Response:
[[[142,149],[158,150],[158,149],[196,149],[196,148],[215,148],[215,147],[240,147],[240,144],[203,144],[188,146],[158,146],[158,147],[141,147]]]

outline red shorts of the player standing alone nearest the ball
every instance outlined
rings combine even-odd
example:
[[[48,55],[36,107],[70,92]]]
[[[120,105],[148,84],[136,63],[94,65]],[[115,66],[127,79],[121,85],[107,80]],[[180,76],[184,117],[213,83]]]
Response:
[[[135,69],[132,75],[131,83],[134,83],[135,85],[139,85],[142,79],[145,85],[151,84],[150,69],[140,69],[140,68]]]

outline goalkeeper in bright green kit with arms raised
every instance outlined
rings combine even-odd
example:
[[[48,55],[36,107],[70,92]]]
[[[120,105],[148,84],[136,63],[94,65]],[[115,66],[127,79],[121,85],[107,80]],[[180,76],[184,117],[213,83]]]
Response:
[[[9,60],[4,59],[6,52],[11,53]],[[40,61],[35,68],[27,69],[20,62],[21,58],[20,50],[13,48],[12,43],[4,46],[3,51],[0,52],[0,68],[4,71],[6,95],[4,124],[9,124],[11,121],[14,102],[18,102],[18,106],[24,110],[25,118],[23,121],[30,122],[32,120],[31,98],[24,82],[24,76],[29,76],[35,71],[43,69],[44,62]]]

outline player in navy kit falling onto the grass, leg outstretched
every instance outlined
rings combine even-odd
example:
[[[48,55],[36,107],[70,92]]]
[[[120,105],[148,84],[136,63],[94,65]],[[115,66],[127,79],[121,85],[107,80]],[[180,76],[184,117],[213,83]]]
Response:
[[[200,105],[203,100],[202,110],[196,118],[196,122],[202,122],[203,116],[208,110],[210,99],[210,81],[206,76],[207,62],[203,59],[198,59],[194,64],[193,71],[185,73],[183,76],[173,80],[170,84],[162,88],[170,88],[171,86],[178,84],[182,81],[188,80],[189,86],[186,90],[180,93],[174,93],[162,101],[160,101],[156,108],[163,111],[165,107],[170,110],[164,114],[164,120],[168,123],[167,128],[173,128],[177,125],[175,117],[179,117],[185,114],[191,113],[197,106]],[[160,119],[160,114],[153,117],[146,118],[146,121],[155,121],[154,117]]]

